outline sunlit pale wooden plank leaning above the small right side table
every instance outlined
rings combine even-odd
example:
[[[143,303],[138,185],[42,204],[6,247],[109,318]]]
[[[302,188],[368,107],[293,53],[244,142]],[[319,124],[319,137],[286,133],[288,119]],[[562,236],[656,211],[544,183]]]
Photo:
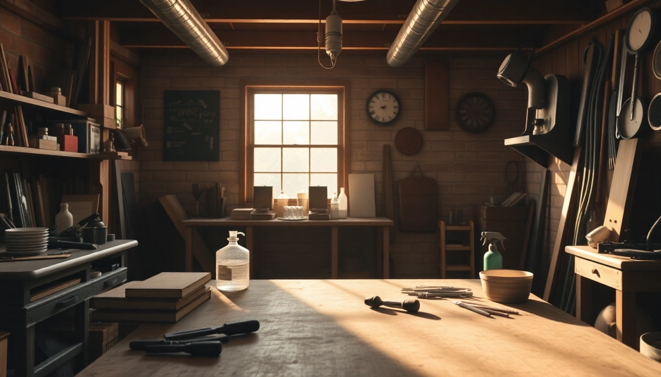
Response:
[[[641,148],[638,148],[638,143],[639,139],[621,140],[617,149],[611,191],[608,195],[606,215],[603,219],[603,226],[611,230],[609,240],[613,242],[621,240],[621,231],[626,229],[629,223],[629,212],[641,156]]]

